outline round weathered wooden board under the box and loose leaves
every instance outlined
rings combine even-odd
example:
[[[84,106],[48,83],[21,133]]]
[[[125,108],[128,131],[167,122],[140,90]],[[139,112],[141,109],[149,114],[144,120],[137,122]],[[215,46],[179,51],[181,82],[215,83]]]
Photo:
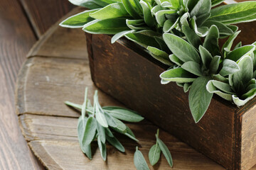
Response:
[[[80,11],[81,8],[76,8],[69,16]],[[156,142],[157,127],[146,120],[127,123],[139,144],[117,136],[126,149],[124,154],[107,145],[104,162],[96,143],[92,145],[91,161],[82,154],[76,129],[80,113],[63,102],[82,103],[85,86],[92,100],[97,88],[90,78],[85,35],[80,29],[60,28],[56,23],[29,52],[16,84],[18,120],[36,157],[47,169],[135,169],[133,155],[138,145],[149,164],[147,155]],[[122,106],[101,91],[99,98],[102,106]],[[160,130],[160,138],[171,150],[173,169],[223,169],[164,130]],[[171,168],[161,155],[159,163],[150,169]]]

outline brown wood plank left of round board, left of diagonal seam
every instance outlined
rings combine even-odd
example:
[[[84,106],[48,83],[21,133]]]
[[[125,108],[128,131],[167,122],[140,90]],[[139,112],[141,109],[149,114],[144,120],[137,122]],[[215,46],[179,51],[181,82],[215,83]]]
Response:
[[[35,35],[17,0],[0,1],[0,169],[42,169],[18,127],[14,86]]]

